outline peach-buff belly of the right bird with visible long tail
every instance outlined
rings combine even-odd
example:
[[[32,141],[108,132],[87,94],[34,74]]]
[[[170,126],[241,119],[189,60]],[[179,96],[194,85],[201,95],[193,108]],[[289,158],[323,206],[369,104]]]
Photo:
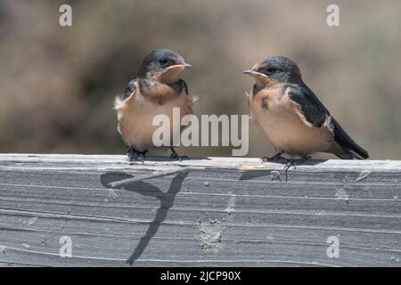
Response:
[[[332,133],[327,126],[310,126],[292,104],[267,104],[268,110],[254,108],[253,113],[275,148],[294,156],[329,150]]]

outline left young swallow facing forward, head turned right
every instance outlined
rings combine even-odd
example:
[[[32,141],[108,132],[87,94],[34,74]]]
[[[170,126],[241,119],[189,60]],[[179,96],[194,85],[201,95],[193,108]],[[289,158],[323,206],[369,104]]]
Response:
[[[176,52],[152,50],[139,66],[136,79],[128,83],[124,94],[116,97],[114,109],[118,114],[118,130],[127,143],[131,161],[143,161],[146,153],[156,148],[152,142],[153,132],[158,128],[152,126],[156,115],[167,115],[173,130],[173,108],[180,108],[181,118],[192,114],[192,97],[188,95],[185,81],[180,79],[181,71],[190,67]],[[171,135],[173,138],[179,133]],[[176,153],[172,143],[170,145],[171,159],[181,161],[185,158]]]

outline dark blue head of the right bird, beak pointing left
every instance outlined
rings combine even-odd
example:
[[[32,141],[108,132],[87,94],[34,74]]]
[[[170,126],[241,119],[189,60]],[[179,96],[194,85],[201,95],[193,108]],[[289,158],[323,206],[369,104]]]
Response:
[[[271,56],[244,71],[255,77],[257,84],[267,81],[301,84],[302,77],[298,65],[285,56]]]

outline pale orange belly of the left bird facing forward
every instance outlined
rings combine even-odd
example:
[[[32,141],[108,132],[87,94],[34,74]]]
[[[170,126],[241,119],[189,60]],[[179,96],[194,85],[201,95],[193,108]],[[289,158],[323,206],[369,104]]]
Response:
[[[137,151],[156,148],[152,138],[154,131],[160,126],[152,126],[152,121],[157,115],[163,114],[167,115],[170,121],[170,141],[172,142],[173,137],[177,137],[180,134],[180,128],[173,134],[173,108],[180,109],[181,122],[181,118],[184,115],[192,113],[191,97],[178,95],[162,104],[151,102],[141,95],[129,97],[117,109],[119,133],[123,141]]]

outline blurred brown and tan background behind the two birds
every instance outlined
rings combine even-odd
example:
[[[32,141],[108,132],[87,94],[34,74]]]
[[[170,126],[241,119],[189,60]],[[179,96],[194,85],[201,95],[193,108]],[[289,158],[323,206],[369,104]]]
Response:
[[[72,27],[59,25],[61,4],[72,6]],[[340,27],[326,24],[329,4],[340,6]],[[399,12],[400,1],[2,0],[0,152],[126,153],[114,97],[146,53],[166,47],[194,67],[182,77],[200,97],[198,116],[248,114],[253,81],[241,71],[285,55],[372,159],[401,159]],[[273,153],[251,121],[249,156]]]

